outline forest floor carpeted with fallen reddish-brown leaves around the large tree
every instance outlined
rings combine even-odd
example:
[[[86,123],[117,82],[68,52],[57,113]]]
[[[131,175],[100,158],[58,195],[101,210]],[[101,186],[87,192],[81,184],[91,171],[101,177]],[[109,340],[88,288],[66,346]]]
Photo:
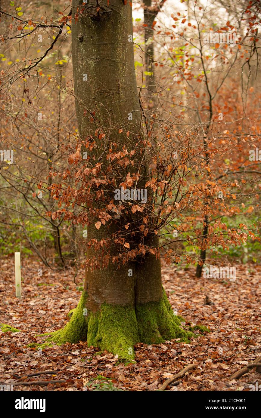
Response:
[[[43,270],[38,277],[38,269]],[[0,384],[14,384],[14,390],[157,390],[162,383],[187,364],[196,364],[167,390],[249,390],[261,384],[261,374],[250,370],[238,380],[229,381],[236,371],[261,355],[261,266],[236,265],[234,282],[224,279],[195,278],[195,268],[162,266],[167,296],[178,315],[192,324],[203,324],[210,333],[192,339],[164,344],[135,346],[136,363],[124,365],[117,356],[95,347],[79,344],[28,348],[36,337],[63,327],[70,309],[79,301],[84,272],[74,283],[74,270],[54,271],[33,259],[22,263],[22,298],[15,298],[13,257],[0,260],[0,323],[20,332],[0,330]],[[205,304],[206,297],[210,304]],[[187,328],[188,324],[184,325]],[[98,353],[98,354],[97,354]],[[44,374],[44,371],[53,371]],[[41,373],[26,376],[31,373]],[[105,380],[102,380],[102,376]],[[38,381],[64,380],[39,384]],[[31,385],[22,383],[33,382]],[[104,383],[101,382],[110,382]],[[107,386],[106,386],[107,385]]]

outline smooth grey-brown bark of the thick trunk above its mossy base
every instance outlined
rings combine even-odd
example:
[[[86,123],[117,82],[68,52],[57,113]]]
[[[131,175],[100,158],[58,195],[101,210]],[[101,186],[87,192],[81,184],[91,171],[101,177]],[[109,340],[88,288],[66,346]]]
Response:
[[[127,150],[131,150],[139,140],[142,134],[141,110],[134,69],[132,8],[121,0],[110,1],[109,6],[107,1],[99,1],[99,8],[97,12],[97,3],[93,0],[85,6],[82,6],[82,2],[73,1],[72,58],[79,135],[85,139],[88,135],[94,135],[96,129],[105,133],[102,140],[95,138],[98,144],[100,141],[100,152],[96,149],[88,151],[88,155],[95,156],[96,162],[100,158],[99,161],[106,166],[108,162],[106,155],[102,155],[102,149],[107,143],[120,142]],[[130,113],[132,120],[128,117]],[[119,129],[123,129],[122,134],[118,133]],[[130,132],[128,138],[127,131]],[[141,157],[137,156],[137,167],[140,160]],[[131,167],[121,169],[119,183],[125,180],[130,170]],[[135,167],[133,170],[136,171]],[[100,208],[101,205],[97,202],[96,207]],[[88,237],[100,240],[110,236],[117,228],[111,225],[110,230],[103,226],[97,230],[95,225],[90,225]],[[117,255],[118,247],[111,245],[108,250],[110,255]],[[89,250],[87,258],[94,254],[97,255],[97,252]],[[128,275],[130,269],[133,276]],[[140,285],[137,284],[138,277],[141,278]],[[145,291],[146,279],[148,289]],[[141,288],[143,296],[139,291]],[[139,262],[127,262],[120,269],[117,269],[117,264],[94,272],[88,269],[84,289],[89,295],[87,308],[93,312],[99,310],[105,301],[132,306],[136,297],[138,300],[159,301],[162,297],[160,260],[150,256]]]

